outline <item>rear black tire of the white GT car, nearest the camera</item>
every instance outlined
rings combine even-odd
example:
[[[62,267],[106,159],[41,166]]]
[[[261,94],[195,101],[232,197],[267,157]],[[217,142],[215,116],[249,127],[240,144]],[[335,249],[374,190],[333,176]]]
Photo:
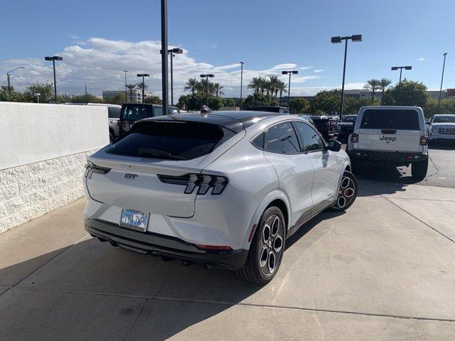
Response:
[[[279,226],[276,227],[277,232],[274,234],[273,231],[277,219],[279,220]],[[270,239],[269,244],[264,242],[265,237],[267,237],[267,229],[269,230],[269,238],[267,238],[267,240]],[[286,240],[285,233],[286,226],[282,211],[276,206],[268,207],[267,210],[262,213],[250,245],[247,261],[241,269],[236,271],[237,276],[245,281],[256,284],[267,284],[269,281],[272,281],[282,263]],[[281,238],[281,247],[279,247],[278,237]],[[264,254],[267,259],[264,259]],[[270,264],[272,262],[272,254],[274,255],[274,261],[272,266],[273,270],[271,271]],[[261,264],[264,265],[261,266]]]

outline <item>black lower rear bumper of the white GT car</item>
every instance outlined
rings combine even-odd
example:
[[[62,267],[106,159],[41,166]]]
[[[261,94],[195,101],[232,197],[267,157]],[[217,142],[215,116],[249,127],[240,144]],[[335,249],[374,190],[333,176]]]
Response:
[[[248,256],[248,250],[210,251],[198,249],[195,244],[176,237],[152,232],[137,232],[112,222],[85,218],[85,229],[102,242],[110,242],[140,254],[180,259],[190,263],[216,266],[224,269],[240,269]]]

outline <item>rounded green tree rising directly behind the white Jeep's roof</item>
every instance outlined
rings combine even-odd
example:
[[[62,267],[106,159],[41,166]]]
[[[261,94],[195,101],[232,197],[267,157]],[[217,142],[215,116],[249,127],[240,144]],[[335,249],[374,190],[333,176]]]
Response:
[[[383,105],[405,105],[424,108],[429,100],[427,87],[421,82],[404,80],[385,91],[382,96]]]

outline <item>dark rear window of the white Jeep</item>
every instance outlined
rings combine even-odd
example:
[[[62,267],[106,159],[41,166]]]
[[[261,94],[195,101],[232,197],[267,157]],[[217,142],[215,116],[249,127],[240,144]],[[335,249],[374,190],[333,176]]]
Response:
[[[419,113],[413,109],[366,109],[360,128],[420,130]]]

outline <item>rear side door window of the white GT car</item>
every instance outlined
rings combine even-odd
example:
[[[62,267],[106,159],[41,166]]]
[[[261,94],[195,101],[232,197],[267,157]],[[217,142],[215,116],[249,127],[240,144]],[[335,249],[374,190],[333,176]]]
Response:
[[[277,124],[265,132],[264,150],[273,153],[300,153],[299,142],[290,122]]]

